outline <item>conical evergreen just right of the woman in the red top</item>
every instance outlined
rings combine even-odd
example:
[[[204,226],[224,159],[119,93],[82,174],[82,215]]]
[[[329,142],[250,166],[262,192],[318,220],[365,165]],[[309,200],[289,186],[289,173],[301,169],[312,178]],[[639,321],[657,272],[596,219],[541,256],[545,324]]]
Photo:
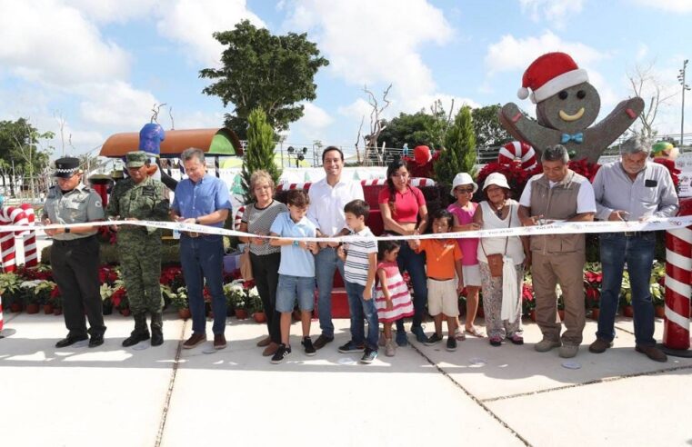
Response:
[[[445,135],[445,150],[440,154],[435,167],[436,181],[451,187],[458,173],[475,174],[476,135],[474,134],[471,108],[463,106],[456,114],[454,123]]]

